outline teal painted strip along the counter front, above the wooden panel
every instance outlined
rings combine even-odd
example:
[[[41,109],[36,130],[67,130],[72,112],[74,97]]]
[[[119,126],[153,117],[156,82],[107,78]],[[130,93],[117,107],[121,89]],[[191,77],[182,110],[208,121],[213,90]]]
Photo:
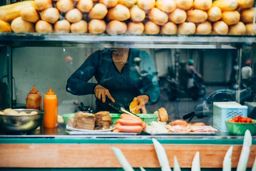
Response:
[[[243,139],[158,139],[161,144],[223,144],[242,145]],[[0,138],[0,144],[152,144],[151,139],[56,139],[56,138]],[[256,139],[253,139],[256,145]]]

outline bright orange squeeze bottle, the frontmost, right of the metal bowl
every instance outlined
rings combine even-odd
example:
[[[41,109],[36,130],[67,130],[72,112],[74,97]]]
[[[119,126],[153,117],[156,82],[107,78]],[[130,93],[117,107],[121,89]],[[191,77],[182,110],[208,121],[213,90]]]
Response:
[[[45,128],[55,128],[57,125],[58,117],[58,99],[57,95],[52,92],[50,87],[49,91],[44,95],[44,127]]]

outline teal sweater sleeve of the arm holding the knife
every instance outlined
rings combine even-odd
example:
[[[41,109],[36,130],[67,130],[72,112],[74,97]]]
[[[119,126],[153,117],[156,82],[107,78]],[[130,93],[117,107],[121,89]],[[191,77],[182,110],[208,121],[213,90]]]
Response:
[[[94,94],[96,83],[88,81],[94,76],[101,51],[92,53],[85,62],[70,76],[66,90],[73,95]]]

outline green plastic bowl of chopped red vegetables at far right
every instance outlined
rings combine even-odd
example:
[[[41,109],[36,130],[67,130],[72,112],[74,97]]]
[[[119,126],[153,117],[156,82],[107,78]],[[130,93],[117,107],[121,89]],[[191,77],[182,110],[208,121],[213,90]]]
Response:
[[[229,119],[228,119],[229,120]],[[229,133],[233,135],[245,135],[245,131],[249,129],[252,135],[256,134],[256,123],[236,123],[236,122],[229,122],[226,120],[226,125],[228,128]],[[253,122],[255,119],[253,119]]]

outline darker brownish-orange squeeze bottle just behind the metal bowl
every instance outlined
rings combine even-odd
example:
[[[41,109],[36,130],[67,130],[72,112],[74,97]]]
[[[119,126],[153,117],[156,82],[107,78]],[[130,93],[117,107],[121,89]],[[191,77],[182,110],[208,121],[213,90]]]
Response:
[[[32,90],[28,93],[26,98],[26,108],[27,109],[39,109],[40,110],[40,97],[36,91],[35,85]]]

